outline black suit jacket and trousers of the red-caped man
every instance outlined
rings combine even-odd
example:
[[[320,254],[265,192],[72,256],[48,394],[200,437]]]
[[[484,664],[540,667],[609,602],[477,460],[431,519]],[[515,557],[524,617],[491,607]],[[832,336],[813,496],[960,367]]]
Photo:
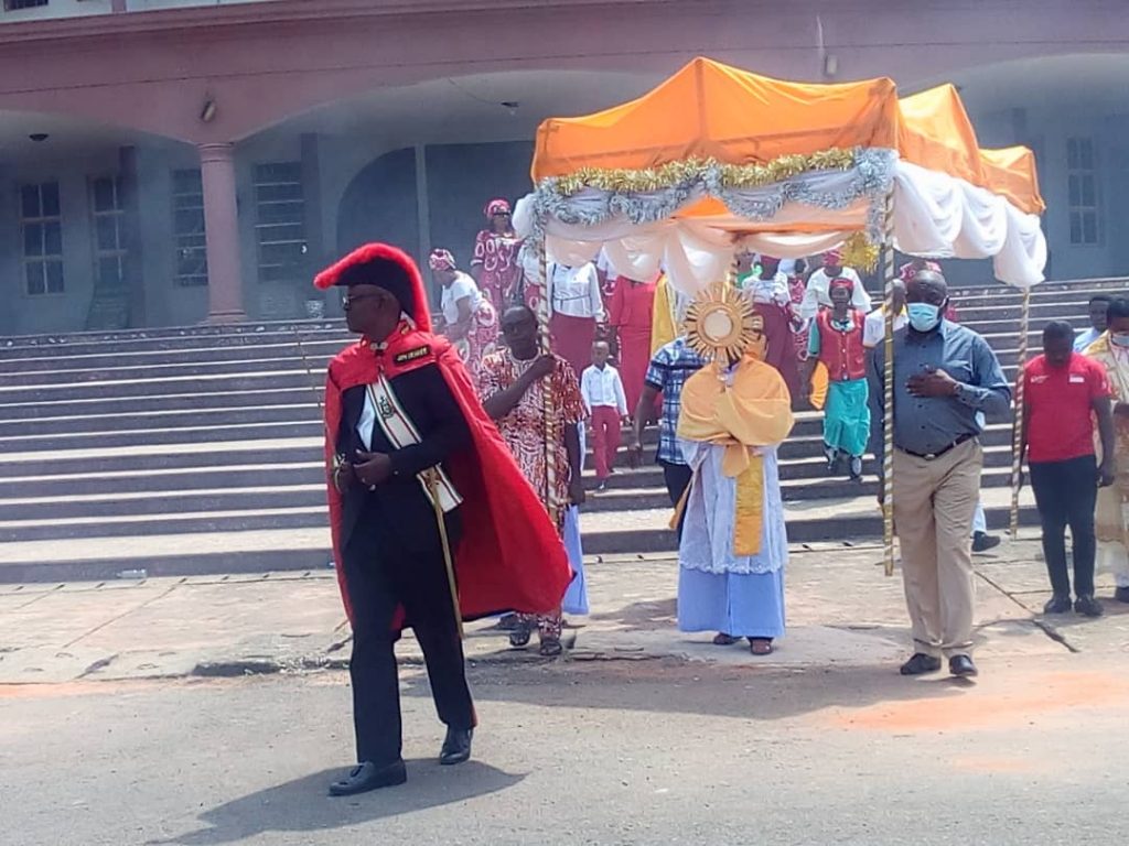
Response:
[[[358,432],[367,387],[342,393],[338,453],[357,450],[392,455],[392,477],[368,490],[356,482],[343,494],[342,558],[352,606],[353,649],[349,663],[358,761],[385,766],[401,756],[400,686],[393,645],[402,607],[423,650],[439,719],[452,729],[472,729],[474,706],[466,686],[463,646],[455,618],[435,505],[417,474],[470,447],[466,421],[436,364],[390,380],[418,444],[395,449],[373,422],[366,442]],[[369,407],[376,414],[379,409]],[[452,552],[460,537],[458,509],[446,515]]]

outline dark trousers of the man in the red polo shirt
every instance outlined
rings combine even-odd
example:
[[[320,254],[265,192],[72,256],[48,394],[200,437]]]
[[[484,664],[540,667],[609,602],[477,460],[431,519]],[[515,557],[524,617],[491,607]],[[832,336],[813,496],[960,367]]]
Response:
[[[1094,594],[1094,504],[1097,502],[1097,462],[1093,456],[1067,461],[1032,461],[1031,487],[1043,525],[1043,557],[1056,596],[1070,596],[1066,564],[1066,527],[1074,549],[1074,590]]]

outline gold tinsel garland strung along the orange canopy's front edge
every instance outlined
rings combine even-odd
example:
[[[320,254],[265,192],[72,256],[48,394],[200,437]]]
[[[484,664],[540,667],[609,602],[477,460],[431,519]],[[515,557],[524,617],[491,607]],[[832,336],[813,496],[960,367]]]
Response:
[[[855,167],[855,151],[832,148],[814,153],[781,156],[763,165],[724,165],[716,159],[685,159],[641,170],[625,168],[581,168],[558,177],[557,193],[572,196],[583,188],[599,188],[619,194],[659,191],[701,179],[710,170],[720,170],[727,188],[759,188],[811,170],[849,170]]]

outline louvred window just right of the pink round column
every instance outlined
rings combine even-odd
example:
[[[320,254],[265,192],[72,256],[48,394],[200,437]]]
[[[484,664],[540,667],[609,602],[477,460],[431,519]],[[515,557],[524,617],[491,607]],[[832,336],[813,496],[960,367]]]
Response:
[[[306,273],[306,209],[299,162],[255,166],[255,211],[259,281],[300,280]]]

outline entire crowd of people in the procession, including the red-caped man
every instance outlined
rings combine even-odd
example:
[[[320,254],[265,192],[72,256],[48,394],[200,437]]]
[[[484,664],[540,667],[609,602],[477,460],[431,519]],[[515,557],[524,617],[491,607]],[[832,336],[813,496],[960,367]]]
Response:
[[[623,430],[627,455],[638,464],[644,431],[657,423],[655,459],[679,541],[679,627],[712,632],[719,646],[747,641],[754,655],[770,654],[785,632],[788,548],[777,449],[794,411],[822,409],[829,474],[860,482],[870,452],[881,482],[885,307],[872,308],[861,277],[838,252],[807,261],[738,256],[725,297],[747,315],[750,338],[738,352],[709,354],[683,328],[690,298],[660,271],[637,279],[602,254],[578,266],[550,264],[542,280],[527,270],[509,204],[493,200],[484,211],[469,273],[448,249],[428,257],[441,291],[439,335],[426,334],[431,317],[423,315],[422,280],[399,250],[369,245],[318,277],[347,289],[349,326],[362,335],[331,365],[326,403],[327,415],[335,415],[326,421],[335,558],[355,632],[362,634],[353,652],[362,764],[393,751],[369,738],[366,708],[368,697],[380,698],[375,713],[399,721],[385,699],[395,696],[388,655],[403,611],[422,633],[448,725],[444,763],[469,757],[474,716],[461,646],[439,606],[461,605],[458,620],[520,611],[499,623],[513,646],[525,646],[536,632],[541,654],[562,652],[562,615],[587,613],[577,508],[592,493],[583,484],[588,442],[598,495],[616,472]],[[545,303],[551,352],[539,323]],[[1013,386],[988,342],[957,321],[936,262],[904,265],[892,306],[892,510],[913,643],[901,672],[934,672],[947,659],[951,673],[974,676],[971,555],[999,543],[987,535],[979,501],[980,435],[987,417],[1006,417]],[[1048,614],[1102,613],[1094,596],[1099,557],[1115,573],[1114,598],[1129,601],[1129,299],[1095,297],[1089,317],[1092,326],[1077,335],[1067,324],[1047,326],[1043,354],[1021,377],[1023,450],[1052,590]],[[342,384],[344,372],[350,378]],[[495,466],[481,456],[471,462],[478,476],[458,469],[458,457],[479,447],[474,435],[490,421],[500,439],[495,434],[489,449],[508,449],[505,461],[524,479],[519,495],[506,472],[501,481],[490,478]],[[426,496],[403,504],[386,495],[394,483],[397,496],[420,488]],[[499,484],[509,488],[501,499],[490,493]],[[467,513],[467,486],[489,513]],[[541,505],[536,518],[531,502]],[[404,512],[405,526],[422,527],[420,503],[434,508],[439,531],[414,548],[393,537],[399,517],[388,514]],[[357,519],[366,509],[385,513],[370,526]],[[515,547],[502,535],[516,526],[523,534]],[[526,532],[535,536],[530,547]],[[488,578],[479,591],[483,572],[470,576],[462,567],[462,550],[475,545],[466,557],[492,555],[499,558],[495,576],[501,571],[513,581],[508,569],[524,567],[522,578],[509,585]],[[377,567],[379,578],[361,562],[376,549],[376,558],[392,559]],[[409,572],[408,562],[423,553],[427,572]],[[447,580],[436,587],[444,561]],[[431,601],[421,588],[428,579],[436,587]],[[539,579],[550,587],[531,599],[537,593],[531,580]],[[369,790],[401,776],[402,767],[361,768],[334,791]]]

